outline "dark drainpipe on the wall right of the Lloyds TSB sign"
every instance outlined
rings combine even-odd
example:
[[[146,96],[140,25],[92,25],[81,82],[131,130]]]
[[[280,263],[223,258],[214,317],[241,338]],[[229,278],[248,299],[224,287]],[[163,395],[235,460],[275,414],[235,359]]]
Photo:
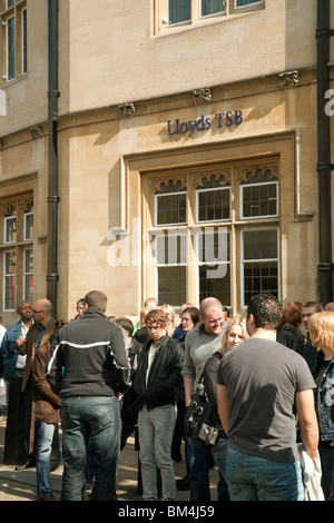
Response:
[[[331,216],[331,121],[325,114],[325,92],[330,89],[330,0],[317,0],[317,146],[318,146],[318,249],[320,300],[333,300],[332,216]]]

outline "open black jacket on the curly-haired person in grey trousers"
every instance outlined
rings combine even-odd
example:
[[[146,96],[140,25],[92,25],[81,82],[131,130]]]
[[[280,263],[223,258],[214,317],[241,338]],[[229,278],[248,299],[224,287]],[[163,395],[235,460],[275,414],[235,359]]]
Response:
[[[148,409],[175,403],[175,391],[181,382],[184,353],[177,339],[164,336],[157,344],[157,352],[149,371],[148,354],[151,342],[147,342],[138,358],[138,367],[134,377],[132,388],[137,395],[137,406],[140,411],[144,405]]]

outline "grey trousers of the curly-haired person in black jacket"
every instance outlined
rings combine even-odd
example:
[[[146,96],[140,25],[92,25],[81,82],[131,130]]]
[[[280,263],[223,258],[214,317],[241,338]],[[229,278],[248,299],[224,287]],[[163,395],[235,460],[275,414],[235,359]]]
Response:
[[[175,422],[175,405],[164,405],[150,411],[145,405],[139,412],[143,500],[157,500],[157,466],[161,473],[163,501],[175,500],[175,471],[170,456]]]

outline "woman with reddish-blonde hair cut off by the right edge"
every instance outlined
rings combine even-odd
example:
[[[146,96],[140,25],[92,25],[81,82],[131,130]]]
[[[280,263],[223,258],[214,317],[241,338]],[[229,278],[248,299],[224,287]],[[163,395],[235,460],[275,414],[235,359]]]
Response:
[[[322,462],[322,487],[325,500],[333,496],[334,423],[331,408],[334,404],[334,313],[314,314],[308,322],[312,345],[318,349],[318,363],[313,377],[315,409],[320,427],[318,453]]]

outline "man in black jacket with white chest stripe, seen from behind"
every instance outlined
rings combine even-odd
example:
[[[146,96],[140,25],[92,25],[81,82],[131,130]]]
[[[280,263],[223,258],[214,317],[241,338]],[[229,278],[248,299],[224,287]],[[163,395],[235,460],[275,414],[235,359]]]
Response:
[[[48,375],[56,368],[61,398],[62,501],[81,501],[88,440],[96,466],[94,501],[112,501],[120,446],[118,394],[128,387],[129,366],[121,327],[105,315],[107,296],[92,290],[85,312],[58,333]]]

